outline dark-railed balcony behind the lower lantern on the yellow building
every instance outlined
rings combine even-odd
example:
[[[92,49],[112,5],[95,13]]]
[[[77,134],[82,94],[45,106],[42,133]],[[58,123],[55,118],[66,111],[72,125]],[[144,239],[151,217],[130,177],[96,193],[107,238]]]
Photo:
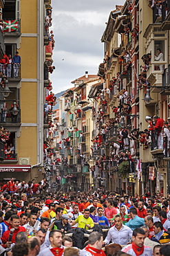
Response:
[[[19,109],[19,112],[17,113],[16,116],[14,116],[12,111],[7,110],[5,122],[4,122],[4,117],[1,114],[0,125],[2,125],[3,127],[20,126],[21,125],[21,109]]]

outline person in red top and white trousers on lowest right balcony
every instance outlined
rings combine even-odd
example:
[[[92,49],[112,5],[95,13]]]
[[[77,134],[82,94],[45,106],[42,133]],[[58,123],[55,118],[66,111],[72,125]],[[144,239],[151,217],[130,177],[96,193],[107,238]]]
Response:
[[[158,136],[158,149],[163,149],[163,136],[162,136],[162,127],[164,125],[164,120],[162,118],[158,118],[158,116],[153,116],[153,120],[155,122],[155,126],[153,129],[156,131]]]

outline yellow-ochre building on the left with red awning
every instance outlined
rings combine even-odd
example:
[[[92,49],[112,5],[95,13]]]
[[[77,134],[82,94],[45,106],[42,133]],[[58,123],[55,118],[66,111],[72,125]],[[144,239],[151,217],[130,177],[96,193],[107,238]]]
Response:
[[[45,16],[50,10],[50,0],[7,0],[4,4],[2,18],[7,25],[3,30],[6,55],[13,57],[18,51],[21,64],[17,67],[12,65],[9,74],[4,71],[11,93],[7,99],[6,122],[1,120],[1,125],[10,131],[7,143],[14,147],[14,157],[5,158],[0,165],[2,182],[3,178],[12,176],[27,182],[43,178],[39,171],[44,166],[43,104],[46,89],[43,73],[45,45],[48,44]],[[11,112],[14,99],[17,115]]]

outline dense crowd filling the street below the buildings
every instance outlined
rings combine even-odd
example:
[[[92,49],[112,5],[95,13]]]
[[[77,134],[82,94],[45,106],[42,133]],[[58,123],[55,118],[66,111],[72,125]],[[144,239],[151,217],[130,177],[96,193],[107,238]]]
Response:
[[[170,195],[50,193],[45,179],[41,193],[35,184],[12,178],[1,189],[1,255],[169,255]]]

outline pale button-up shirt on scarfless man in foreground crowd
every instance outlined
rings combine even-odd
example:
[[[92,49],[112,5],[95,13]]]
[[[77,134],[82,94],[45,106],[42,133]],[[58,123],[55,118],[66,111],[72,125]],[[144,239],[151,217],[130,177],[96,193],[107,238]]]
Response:
[[[109,229],[107,237],[105,238],[105,243],[109,244],[109,241],[111,240],[111,242],[114,244],[125,245],[131,239],[132,233],[133,231],[131,228],[125,225],[123,225],[120,230],[117,230],[117,228],[114,226]]]

